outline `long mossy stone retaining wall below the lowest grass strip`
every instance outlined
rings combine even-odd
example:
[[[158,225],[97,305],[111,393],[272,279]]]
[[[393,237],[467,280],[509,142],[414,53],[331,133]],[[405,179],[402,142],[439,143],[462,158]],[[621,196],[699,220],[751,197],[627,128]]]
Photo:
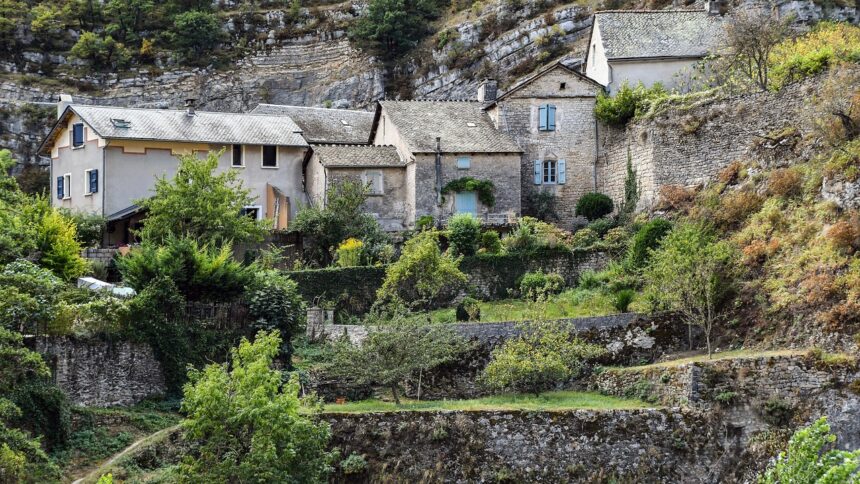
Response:
[[[324,418],[332,445],[368,462],[335,482],[721,482],[732,447],[714,416],[679,409]]]

